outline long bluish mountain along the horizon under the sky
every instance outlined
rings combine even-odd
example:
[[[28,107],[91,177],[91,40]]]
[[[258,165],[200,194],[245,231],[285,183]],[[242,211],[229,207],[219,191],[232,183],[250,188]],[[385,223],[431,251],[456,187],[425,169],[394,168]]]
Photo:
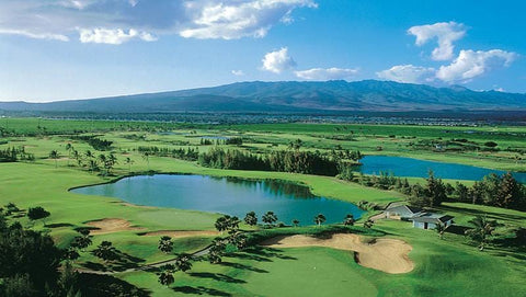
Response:
[[[526,94],[434,88],[392,81],[237,82],[214,88],[49,103],[0,102],[0,110],[26,112],[408,112],[514,111]]]

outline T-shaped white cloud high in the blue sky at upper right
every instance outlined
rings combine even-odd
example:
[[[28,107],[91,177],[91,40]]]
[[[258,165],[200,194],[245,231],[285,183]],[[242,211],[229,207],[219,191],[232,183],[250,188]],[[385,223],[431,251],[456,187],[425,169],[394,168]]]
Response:
[[[462,38],[466,35],[466,28],[464,24],[443,22],[432,25],[412,26],[408,30],[408,33],[416,36],[415,44],[418,46],[436,38],[438,46],[433,49],[432,58],[434,60],[449,60],[454,57],[453,50],[455,46],[453,42]]]

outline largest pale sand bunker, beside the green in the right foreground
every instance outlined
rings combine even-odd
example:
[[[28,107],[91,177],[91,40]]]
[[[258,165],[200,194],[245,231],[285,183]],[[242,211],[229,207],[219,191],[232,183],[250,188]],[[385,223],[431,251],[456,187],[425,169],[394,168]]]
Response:
[[[336,233],[328,239],[296,235],[275,237],[260,244],[270,248],[325,247],[355,251],[358,264],[387,273],[408,273],[414,267],[408,256],[412,247],[398,239],[378,238],[375,243],[368,244],[362,242],[357,235]]]

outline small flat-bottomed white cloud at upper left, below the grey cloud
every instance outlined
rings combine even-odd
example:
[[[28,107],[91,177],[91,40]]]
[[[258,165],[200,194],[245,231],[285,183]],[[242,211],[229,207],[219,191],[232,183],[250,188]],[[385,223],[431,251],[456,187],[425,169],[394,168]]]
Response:
[[[122,28],[93,28],[80,30],[81,43],[95,43],[95,44],[122,44],[130,39],[141,39],[145,42],[155,42],[157,38],[147,32],[138,32],[130,28],[127,33]]]

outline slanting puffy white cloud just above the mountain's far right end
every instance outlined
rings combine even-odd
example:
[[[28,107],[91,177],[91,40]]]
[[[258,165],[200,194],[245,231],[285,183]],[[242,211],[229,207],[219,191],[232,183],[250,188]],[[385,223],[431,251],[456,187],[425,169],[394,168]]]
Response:
[[[469,82],[490,70],[494,66],[510,66],[517,54],[501,49],[460,50],[458,57],[447,66],[441,66],[436,77],[445,82]]]

